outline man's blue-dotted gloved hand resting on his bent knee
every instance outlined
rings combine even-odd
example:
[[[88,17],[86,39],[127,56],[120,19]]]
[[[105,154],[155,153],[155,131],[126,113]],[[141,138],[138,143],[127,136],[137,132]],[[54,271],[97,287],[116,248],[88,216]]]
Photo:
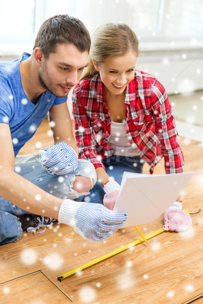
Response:
[[[40,150],[40,163],[53,175],[67,174],[78,167],[78,156],[74,149],[65,142],[59,142],[47,149]]]

